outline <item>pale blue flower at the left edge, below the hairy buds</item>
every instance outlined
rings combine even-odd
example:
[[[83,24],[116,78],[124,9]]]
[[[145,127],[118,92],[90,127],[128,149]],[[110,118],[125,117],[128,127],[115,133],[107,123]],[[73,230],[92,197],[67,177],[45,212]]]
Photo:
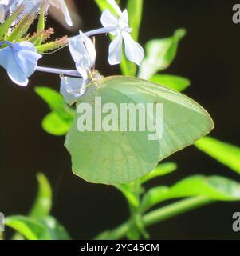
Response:
[[[30,42],[1,42],[3,44],[8,46],[0,49],[0,66],[6,69],[13,82],[26,86],[41,55],[37,54],[35,46]]]

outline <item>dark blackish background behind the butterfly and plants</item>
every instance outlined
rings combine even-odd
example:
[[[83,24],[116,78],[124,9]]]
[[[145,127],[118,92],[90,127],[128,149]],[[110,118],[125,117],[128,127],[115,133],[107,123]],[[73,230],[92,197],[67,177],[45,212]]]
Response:
[[[100,12],[94,1],[75,1],[84,21],[82,30],[100,26]],[[166,38],[177,28],[187,29],[171,68],[163,74],[191,79],[186,94],[201,103],[215,122],[212,136],[240,146],[239,138],[239,62],[240,24],[232,22],[230,1],[145,1],[140,43],[151,38]],[[240,3],[240,1],[239,1]],[[49,18],[55,37],[69,34]],[[96,69],[104,75],[118,74],[118,67],[107,62],[108,38],[97,37]],[[42,66],[73,68],[67,49],[46,55]],[[63,137],[53,137],[41,129],[41,119],[49,112],[45,102],[34,93],[34,86],[59,89],[59,78],[34,74],[26,88],[14,85],[0,70],[0,211],[6,215],[27,214],[37,192],[36,173],[44,172],[53,186],[52,214],[76,239],[93,238],[128,217],[122,195],[111,186],[92,185],[71,172],[69,154]],[[209,158],[194,146],[174,154],[175,174],[151,185],[178,181],[191,174],[218,174],[240,182],[238,174]],[[232,214],[240,211],[239,202],[217,202],[199,210],[171,218],[149,230],[151,238],[240,238],[232,231]]]

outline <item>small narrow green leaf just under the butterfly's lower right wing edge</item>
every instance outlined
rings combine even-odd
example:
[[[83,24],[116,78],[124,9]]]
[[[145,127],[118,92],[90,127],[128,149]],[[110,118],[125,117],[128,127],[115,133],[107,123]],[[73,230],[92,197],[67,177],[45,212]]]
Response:
[[[171,172],[175,171],[177,167],[178,166],[174,162],[167,162],[167,163],[160,164],[155,168],[155,170],[152,170],[149,174],[141,178],[141,183],[148,182],[152,178],[170,174]]]

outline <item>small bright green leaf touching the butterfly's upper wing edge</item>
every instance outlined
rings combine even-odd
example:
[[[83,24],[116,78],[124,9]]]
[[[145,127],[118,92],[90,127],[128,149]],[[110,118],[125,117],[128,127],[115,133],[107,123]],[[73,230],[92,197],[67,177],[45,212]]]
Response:
[[[151,82],[159,83],[159,85],[167,86],[168,88],[183,91],[190,86],[191,82],[187,78],[181,78],[169,74],[155,74],[151,78]]]

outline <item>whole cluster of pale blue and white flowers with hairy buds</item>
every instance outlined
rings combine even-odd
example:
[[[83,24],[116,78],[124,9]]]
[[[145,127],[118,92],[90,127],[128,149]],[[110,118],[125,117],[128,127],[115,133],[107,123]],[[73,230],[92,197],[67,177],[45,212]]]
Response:
[[[116,14],[104,10],[100,22],[102,28],[86,33],[79,32],[73,38],[61,38],[54,42],[45,42],[52,30],[45,30],[45,14],[49,6],[60,9],[65,22],[73,26],[64,0],[0,0],[0,66],[6,69],[12,81],[20,86],[28,84],[28,78],[34,71],[61,74],[61,94],[65,102],[72,105],[84,93],[92,77],[96,62],[96,49],[91,37],[96,34],[111,34],[114,39],[109,46],[108,62],[116,65],[121,62],[122,49],[129,61],[140,65],[144,58],[143,48],[133,40],[132,29],[128,24],[128,10],[123,12],[115,0],[106,0]],[[39,16],[36,34],[31,37],[27,30],[33,20]],[[27,24],[27,25],[26,25]],[[41,52],[69,46],[69,52],[76,65],[76,70],[57,70],[37,66]],[[66,75],[65,77],[63,75]],[[79,78],[72,78],[79,77]]]

